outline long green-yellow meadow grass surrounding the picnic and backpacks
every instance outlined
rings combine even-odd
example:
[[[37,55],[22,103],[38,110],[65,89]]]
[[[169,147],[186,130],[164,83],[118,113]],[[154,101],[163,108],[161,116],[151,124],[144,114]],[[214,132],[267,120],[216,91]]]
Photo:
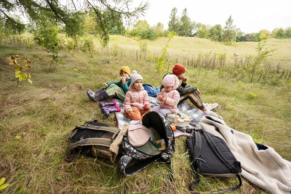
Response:
[[[129,39],[121,39],[115,41],[126,46]],[[174,42],[177,39],[182,41],[183,37],[173,39],[172,49],[183,48]],[[138,43],[134,45],[134,41],[130,41],[131,47],[138,48]],[[209,44],[208,40],[200,41]],[[151,47],[162,48],[165,42],[166,39],[158,39],[151,42]],[[217,44],[217,47],[224,45]],[[31,59],[32,84],[21,81],[16,88],[13,66],[8,65],[7,60],[13,54]],[[98,90],[103,82],[118,80],[118,70],[123,65],[136,69],[145,83],[160,86],[162,75],[157,74],[153,64],[125,57],[62,51],[60,58],[65,66],[58,66],[49,73],[49,65],[33,59],[32,54],[49,55],[39,47],[0,44],[0,178],[7,178],[10,184],[3,194],[16,194],[22,189],[22,193],[28,194],[189,193],[188,186],[194,174],[188,160],[186,137],[176,138],[176,152],[172,158],[175,180],[172,183],[167,179],[169,166],[163,163],[154,163],[133,176],[124,177],[117,167],[118,161],[111,163],[87,157],[72,163],[64,161],[69,145],[67,138],[76,125],[93,119],[117,125],[114,114],[106,118],[98,103],[88,99],[86,88]],[[111,64],[97,65],[104,59]],[[291,161],[290,90],[222,78],[218,72],[208,69],[188,68],[186,76],[188,84],[199,88],[205,102],[219,103],[214,111],[225,118],[229,127],[273,147],[284,159]],[[196,191],[215,192],[236,184],[236,179],[204,178]],[[265,192],[243,179],[242,188],[236,193]]]

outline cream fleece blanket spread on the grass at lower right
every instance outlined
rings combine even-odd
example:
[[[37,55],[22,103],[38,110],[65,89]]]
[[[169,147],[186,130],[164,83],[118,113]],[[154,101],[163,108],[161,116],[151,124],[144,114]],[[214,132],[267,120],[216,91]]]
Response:
[[[227,127],[223,120],[213,116],[204,116],[200,126],[226,141],[241,162],[242,176],[248,181],[272,194],[291,194],[291,162],[273,148],[262,146],[266,149],[259,150],[251,136]]]

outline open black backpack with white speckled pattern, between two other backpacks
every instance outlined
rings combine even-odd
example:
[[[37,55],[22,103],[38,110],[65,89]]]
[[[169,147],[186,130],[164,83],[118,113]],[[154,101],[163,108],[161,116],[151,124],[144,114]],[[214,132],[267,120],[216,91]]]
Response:
[[[119,161],[119,169],[126,176],[133,175],[156,161],[169,162],[169,159],[174,155],[174,132],[162,114],[156,111],[146,113],[143,117],[143,125],[146,128],[153,127],[156,129],[161,139],[164,139],[166,148],[162,151],[158,150],[157,146],[150,139],[143,146],[132,146],[127,137],[128,132],[124,133],[121,142],[123,152]],[[132,159],[135,159],[136,163],[128,166]]]

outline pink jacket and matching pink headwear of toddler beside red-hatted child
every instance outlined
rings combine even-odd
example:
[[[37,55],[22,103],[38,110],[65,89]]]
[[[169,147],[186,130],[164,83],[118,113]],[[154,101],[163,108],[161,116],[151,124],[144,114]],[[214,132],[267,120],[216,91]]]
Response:
[[[165,89],[163,88],[161,90],[161,92],[157,95],[157,96],[159,96],[161,94],[162,97],[167,98],[165,102],[161,101],[161,99],[158,98],[158,100],[161,101],[161,108],[162,109],[169,109],[172,112],[176,112],[177,105],[178,105],[178,102],[180,100],[180,94],[176,90],[179,86],[179,80],[178,80],[177,76],[175,76],[173,74],[166,75],[166,77],[164,77],[164,79],[162,81],[162,84],[164,86],[173,86],[173,88],[170,92],[166,92]]]

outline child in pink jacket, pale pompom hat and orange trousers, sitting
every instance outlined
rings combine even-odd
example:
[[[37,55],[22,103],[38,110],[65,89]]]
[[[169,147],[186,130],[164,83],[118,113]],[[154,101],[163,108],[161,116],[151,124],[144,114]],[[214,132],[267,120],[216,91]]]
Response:
[[[143,87],[143,77],[133,70],[131,84],[124,100],[124,114],[132,119],[129,124],[142,121],[143,116],[150,109],[150,102],[146,90]]]

